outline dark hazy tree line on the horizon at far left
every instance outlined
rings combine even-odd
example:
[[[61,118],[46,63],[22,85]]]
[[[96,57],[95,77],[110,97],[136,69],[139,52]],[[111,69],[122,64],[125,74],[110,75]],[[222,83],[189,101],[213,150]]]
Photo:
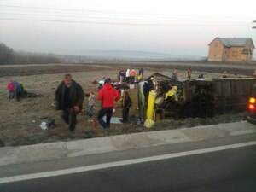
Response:
[[[61,63],[59,58],[54,56],[19,54],[6,44],[0,43],[0,65],[11,64],[48,64]]]

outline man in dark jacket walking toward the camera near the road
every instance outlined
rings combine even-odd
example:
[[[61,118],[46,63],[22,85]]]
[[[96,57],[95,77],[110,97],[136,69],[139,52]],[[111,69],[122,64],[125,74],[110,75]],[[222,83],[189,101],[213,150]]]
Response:
[[[55,91],[56,110],[62,110],[62,119],[69,125],[69,130],[74,131],[77,114],[81,112],[84,102],[84,90],[67,73]]]

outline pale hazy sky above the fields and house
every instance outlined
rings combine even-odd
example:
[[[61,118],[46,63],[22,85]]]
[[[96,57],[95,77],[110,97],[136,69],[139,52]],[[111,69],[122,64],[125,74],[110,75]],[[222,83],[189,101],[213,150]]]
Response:
[[[255,8],[255,0],[0,0],[0,42],[63,55],[119,50],[207,57],[216,37],[253,38],[256,45]]]

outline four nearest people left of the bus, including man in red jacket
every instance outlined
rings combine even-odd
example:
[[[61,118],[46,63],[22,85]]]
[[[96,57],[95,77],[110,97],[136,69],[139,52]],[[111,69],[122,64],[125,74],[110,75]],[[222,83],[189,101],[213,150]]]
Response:
[[[99,90],[97,97],[91,91],[88,98],[88,114],[93,115],[94,106],[97,100],[102,102],[102,108],[97,114],[97,119],[103,129],[110,128],[110,120],[113,114],[114,103],[121,98],[121,107],[123,108],[122,122],[128,121],[129,108],[131,108],[131,97],[127,91],[123,94],[113,88],[111,79],[105,79],[102,89]],[[55,91],[56,109],[62,110],[62,119],[69,125],[69,130],[74,131],[77,123],[77,114],[83,109],[84,90],[75,80],[71,74],[67,73],[63,81]],[[103,116],[106,115],[106,121]]]

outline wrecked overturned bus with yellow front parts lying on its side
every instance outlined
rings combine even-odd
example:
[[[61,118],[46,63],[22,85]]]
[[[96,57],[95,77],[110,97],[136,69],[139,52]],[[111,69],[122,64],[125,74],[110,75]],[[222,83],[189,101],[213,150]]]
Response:
[[[245,111],[255,82],[253,77],[177,81],[154,73],[138,84],[139,117],[144,122]]]

